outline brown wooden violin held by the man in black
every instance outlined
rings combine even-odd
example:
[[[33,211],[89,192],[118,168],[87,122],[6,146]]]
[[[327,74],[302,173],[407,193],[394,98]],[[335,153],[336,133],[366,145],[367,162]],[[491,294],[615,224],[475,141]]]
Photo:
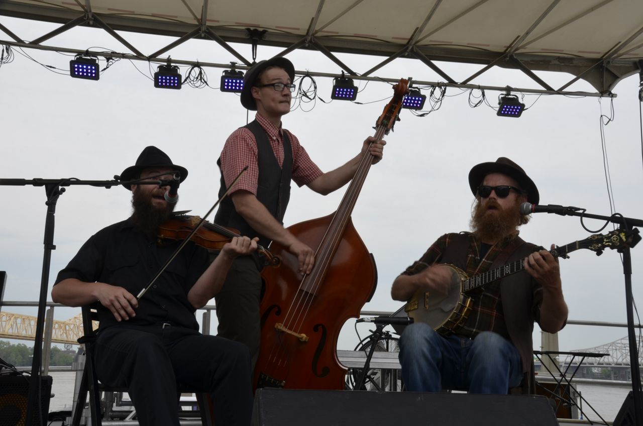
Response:
[[[172,218],[168,219],[168,221],[158,228],[158,245],[165,245],[177,240],[186,239],[200,221],[200,216],[188,216],[186,214],[172,216]],[[221,250],[221,248],[226,243],[230,243],[234,237],[240,237],[238,230],[204,221],[203,225],[197,229],[197,232],[190,237],[190,241],[194,241],[197,246],[203,248]],[[266,265],[279,266],[281,263],[279,257],[271,254],[271,252],[263,246],[257,245],[257,251],[266,257]]]

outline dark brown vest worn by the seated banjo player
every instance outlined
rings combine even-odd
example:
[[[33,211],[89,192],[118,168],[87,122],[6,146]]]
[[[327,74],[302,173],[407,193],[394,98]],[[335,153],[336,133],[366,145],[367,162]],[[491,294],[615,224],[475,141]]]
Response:
[[[462,270],[466,270],[467,250],[471,245],[471,236],[469,234],[453,234],[449,241],[444,254],[440,257],[440,263],[452,263]],[[519,237],[520,238],[520,237]],[[536,252],[539,247],[530,243],[525,243],[520,239],[521,245],[514,250],[503,264],[512,263],[524,259],[527,255]],[[489,269],[499,268],[502,264],[495,262]],[[500,281],[500,301],[505,318],[511,319],[505,321],[507,332],[511,338],[512,344],[516,346],[522,360],[523,373],[527,373],[527,383],[525,387],[531,389],[532,374],[529,374],[533,368],[534,342],[532,341],[532,331],[534,331],[534,317],[531,310],[533,304],[533,292],[531,290],[532,278],[527,272],[518,272]]]

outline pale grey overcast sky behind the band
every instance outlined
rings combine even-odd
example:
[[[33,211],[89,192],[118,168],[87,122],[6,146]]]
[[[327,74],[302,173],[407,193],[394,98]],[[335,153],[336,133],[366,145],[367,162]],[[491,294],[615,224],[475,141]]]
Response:
[[[25,40],[55,28],[0,17],[0,23]],[[144,53],[165,46],[171,39],[127,34]],[[0,39],[9,39],[0,32]],[[99,30],[76,28],[47,42],[53,46],[126,51]],[[98,46],[98,48],[97,48]],[[237,50],[251,57],[249,45]],[[259,46],[258,58],[278,50]],[[43,64],[67,73],[69,56],[25,50]],[[214,42],[190,41],[169,54],[176,59],[227,63],[235,60]],[[379,57],[340,55],[351,68],[365,70]],[[288,59],[298,70],[339,73],[320,53],[297,51]],[[104,66],[105,62],[102,62]],[[440,63],[455,80],[464,80],[479,66]],[[136,68],[135,68],[136,67]],[[138,68],[138,71],[137,71]],[[154,69],[156,66],[154,66]],[[154,71],[152,70],[152,72]],[[181,185],[177,210],[203,215],[219,190],[217,158],[227,136],[246,124],[246,110],[237,95],[217,89],[180,91],[155,89],[145,62],[121,60],[98,82],[57,75],[15,51],[14,62],[0,67],[0,178],[78,178],[109,180],[132,165],[141,150],[156,145],[190,171]],[[185,68],[182,73],[185,74]],[[221,69],[206,69],[210,85],[218,88]],[[440,78],[420,62],[398,59],[377,71],[380,77]],[[568,74],[538,72],[559,87]],[[318,94],[330,100],[331,79],[316,79]],[[473,81],[492,86],[534,87],[518,71],[493,69]],[[311,158],[329,171],[358,153],[363,139],[381,114],[392,89],[388,84],[360,83],[359,105],[316,102],[284,116],[284,127],[300,138]],[[570,89],[593,91],[584,82]],[[620,82],[613,102],[614,120],[605,127],[606,153],[615,211],[643,217],[643,168],[637,99],[638,77]],[[469,229],[473,195],[467,174],[473,165],[507,156],[525,169],[538,185],[542,204],[574,205],[593,214],[610,214],[603,169],[601,113],[611,115],[610,100],[562,96],[525,96],[531,106],[518,119],[502,118],[488,106],[469,107],[469,92],[450,88],[438,111],[419,118],[403,110],[401,122],[386,137],[384,160],[372,167],[352,216],[360,236],[377,263],[379,282],[365,310],[394,311],[400,302],[390,298],[395,277],[420,257],[445,232]],[[486,93],[495,105],[498,92]],[[378,101],[379,102],[374,102]],[[535,102],[535,103],[534,103]],[[533,104],[533,105],[532,105]],[[253,115],[250,116],[253,118]],[[339,205],[344,189],[320,196],[293,184],[285,225],[325,216]],[[42,187],[0,187],[0,270],[8,273],[6,301],[37,301],[42,265],[42,235],[46,206]],[[49,290],[57,275],[86,239],[97,230],[130,214],[130,192],[122,187],[68,187],[56,211],[55,245]],[[602,223],[586,221],[597,229]],[[609,230],[608,228],[607,230]],[[563,245],[590,234],[578,218],[534,214],[521,230],[533,243]],[[633,288],[640,296],[643,245],[633,250]],[[619,254],[596,257],[579,250],[561,261],[563,290],[570,319],[625,322],[624,280]],[[213,301],[212,301],[213,303]],[[36,310],[6,308],[35,315]],[[57,309],[57,319],[68,319],[77,309]],[[358,339],[349,320],[340,337],[340,349],[352,349]],[[213,321],[213,328],[216,320]],[[359,326],[362,336],[368,326]],[[536,329],[538,327],[536,326]],[[626,329],[568,326],[560,333],[561,349],[581,349],[617,340]],[[539,338],[534,341],[538,348]]]

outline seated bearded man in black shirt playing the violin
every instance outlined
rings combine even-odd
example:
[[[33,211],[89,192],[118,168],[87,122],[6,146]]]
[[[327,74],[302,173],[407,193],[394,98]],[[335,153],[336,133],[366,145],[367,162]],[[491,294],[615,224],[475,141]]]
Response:
[[[121,174],[122,181],[185,180],[187,170],[150,146]],[[174,209],[169,186],[123,183],[132,191],[132,216],[92,236],[58,274],[51,298],[68,306],[95,304],[98,379],[127,387],[141,425],[179,425],[177,382],[209,392],[217,425],[250,423],[252,393],[248,348],[204,336],[194,313],[221,290],[239,255],[257,248],[235,237],[211,264],[208,251],[188,242],[151,288],[142,288],[181,243],[157,244],[157,230]]]

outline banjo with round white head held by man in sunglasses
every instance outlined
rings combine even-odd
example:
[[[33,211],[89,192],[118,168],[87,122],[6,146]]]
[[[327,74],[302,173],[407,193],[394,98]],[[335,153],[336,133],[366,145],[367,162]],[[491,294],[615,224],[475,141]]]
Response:
[[[568,253],[581,248],[588,248],[601,255],[605,248],[622,249],[633,247],[640,240],[638,229],[616,229],[608,234],[593,234],[581,241],[575,241],[565,246],[550,250],[554,257],[568,258]],[[478,273],[469,277],[466,272],[453,264],[444,264],[453,270],[448,294],[417,290],[404,306],[404,311],[415,322],[424,322],[441,335],[449,335],[457,331],[466,322],[471,313],[473,299],[467,293],[480,288],[489,282],[497,281],[507,275],[525,269],[525,259],[505,264],[500,268]]]

